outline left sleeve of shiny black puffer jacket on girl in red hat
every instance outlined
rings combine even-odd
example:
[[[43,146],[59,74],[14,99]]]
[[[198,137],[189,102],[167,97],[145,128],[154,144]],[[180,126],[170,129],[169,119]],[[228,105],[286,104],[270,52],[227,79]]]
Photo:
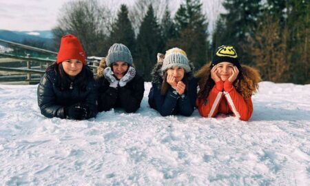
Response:
[[[53,85],[46,74],[44,74],[38,85],[37,96],[38,105],[43,116],[48,118],[65,118],[63,106],[56,105],[56,95],[53,90]]]

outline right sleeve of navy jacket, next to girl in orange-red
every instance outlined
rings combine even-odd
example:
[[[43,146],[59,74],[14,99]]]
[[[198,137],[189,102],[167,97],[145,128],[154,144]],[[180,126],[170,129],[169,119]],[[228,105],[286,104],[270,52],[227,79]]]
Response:
[[[189,83],[187,93],[183,96],[180,96],[178,101],[179,112],[183,116],[190,116],[193,114],[195,109],[195,101],[197,97],[197,81],[192,79]]]

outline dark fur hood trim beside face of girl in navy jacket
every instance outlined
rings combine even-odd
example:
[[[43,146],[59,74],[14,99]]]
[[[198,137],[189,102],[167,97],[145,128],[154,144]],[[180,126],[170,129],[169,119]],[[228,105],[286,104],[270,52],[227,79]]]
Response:
[[[163,72],[161,71],[161,67],[163,66],[163,63],[158,60],[158,62],[154,65],[154,68],[151,72],[152,76],[152,83],[157,85],[158,88],[161,87],[163,84]],[[193,63],[189,63],[189,67],[191,68],[191,72],[187,72],[187,79],[192,79],[194,77],[194,65]]]

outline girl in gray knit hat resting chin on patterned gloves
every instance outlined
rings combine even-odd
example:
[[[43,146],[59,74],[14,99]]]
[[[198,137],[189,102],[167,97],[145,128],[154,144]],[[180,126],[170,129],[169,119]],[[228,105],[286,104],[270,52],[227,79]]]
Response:
[[[136,112],[143,98],[144,80],[136,73],[127,46],[114,43],[97,71],[99,112],[116,107],[123,108],[125,112]]]

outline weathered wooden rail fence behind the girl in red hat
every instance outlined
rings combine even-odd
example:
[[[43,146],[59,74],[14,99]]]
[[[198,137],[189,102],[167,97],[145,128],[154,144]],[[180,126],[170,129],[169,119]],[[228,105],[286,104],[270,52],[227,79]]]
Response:
[[[36,84],[39,83],[41,76],[45,73],[45,69],[54,63],[56,59],[56,52],[52,52],[50,50],[44,50],[41,48],[34,48],[28,45],[22,45],[19,43],[14,43],[11,41],[5,41],[0,39],[0,44],[3,43],[8,47],[12,48],[21,48],[23,50],[28,50],[32,52],[41,52],[43,54],[50,54],[50,56],[54,59],[48,58],[38,58],[32,57],[30,54],[26,54],[25,56],[17,56],[14,54],[8,53],[0,53],[0,58],[4,58],[0,63],[0,71],[6,72],[8,75],[0,75],[0,83],[29,83]],[[7,60],[6,60],[7,59]],[[21,63],[25,63],[23,67],[12,68],[12,67],[3,67],[2,63],[12,63],[14,60],[21,61]],[[96,68],[99,65],[100,58],[90,58],[87,59],[87,63],[92,68],[94,73],[96,73]],[[33,65],[34,63],[39,65]],[[15,72],[15,74],[10,74],[10,72]]]

